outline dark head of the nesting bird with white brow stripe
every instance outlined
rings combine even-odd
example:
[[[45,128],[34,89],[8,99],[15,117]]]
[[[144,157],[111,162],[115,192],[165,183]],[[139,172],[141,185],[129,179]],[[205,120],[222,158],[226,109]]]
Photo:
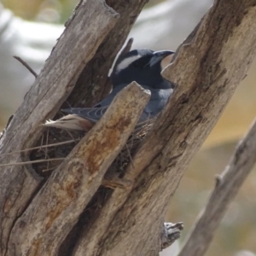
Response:
[[[173,53],[172,50],[131,50],[119,58],[113,68],[111,74],[113,87],[136,81],[138,84],[155,89],[171,88],[172,84],[161,76],[161,71],[162,61]]]

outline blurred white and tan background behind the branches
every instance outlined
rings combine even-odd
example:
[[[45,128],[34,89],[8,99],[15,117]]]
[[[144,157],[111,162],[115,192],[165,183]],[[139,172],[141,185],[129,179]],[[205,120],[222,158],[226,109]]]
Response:
[[[40,72],[77,0],[3,0],[0,3],[0,131],[20,106],[34,78],[12,56]],[[149,1],[130,37],[133,48],[177,49],[212,5],[212,0]],[[256,116],[256,60],[218,124],[192,160],[180,183],[166,221],[183,221],[180,242],[205,206],[215,176],[224,170],[236,143]],[[256,252],[256,173],[231,204],[207,256],[253,256]],[[174,255],[167,249],[162,255]]]

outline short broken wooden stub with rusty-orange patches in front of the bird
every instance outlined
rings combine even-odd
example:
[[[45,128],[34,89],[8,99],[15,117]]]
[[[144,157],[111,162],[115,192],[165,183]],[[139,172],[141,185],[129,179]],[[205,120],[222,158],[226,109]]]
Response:
[[[150,92],[135,82],[119,92],[16,221],[8,255],[56,255],[125,146],[149,97]]]

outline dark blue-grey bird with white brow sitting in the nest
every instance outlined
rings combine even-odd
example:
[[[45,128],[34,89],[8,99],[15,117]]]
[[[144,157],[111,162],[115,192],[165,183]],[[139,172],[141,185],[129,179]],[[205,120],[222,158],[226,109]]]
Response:
[[[160,113],[168,98],[172,96],[174,84],[161,76],[161,61],[166,56],[173,54],[172,50],[133,49],[120,56],[110,75],[113,90],[106,98],[96,103],[92,108],[61,109],[61,112],[68,114],[55,121],[47,120],[44,126],[74,131],[90,131],[93,125],[102,118],[114,96],[132,81],[136,81],[143,89],[151,92],[149,102],[143,109],[137,127],[145,124]]]

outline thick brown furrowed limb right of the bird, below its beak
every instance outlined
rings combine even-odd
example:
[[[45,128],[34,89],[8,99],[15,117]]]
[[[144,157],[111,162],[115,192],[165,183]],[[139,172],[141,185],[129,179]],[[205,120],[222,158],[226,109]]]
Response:
[[[157,255],[168,202],[256,55],[255,5],[215,1],[179,49],[164,72],[176,93],[125,174],[133,186],[114,190],[74,255]]]

